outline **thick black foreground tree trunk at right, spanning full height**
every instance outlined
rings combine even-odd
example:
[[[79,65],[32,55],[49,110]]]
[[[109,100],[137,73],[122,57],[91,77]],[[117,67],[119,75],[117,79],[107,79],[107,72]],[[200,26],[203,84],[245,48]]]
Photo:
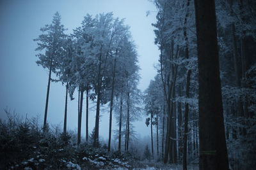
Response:
[[[199,169],[228,169],[214,0],[195,0],[199,74]]]

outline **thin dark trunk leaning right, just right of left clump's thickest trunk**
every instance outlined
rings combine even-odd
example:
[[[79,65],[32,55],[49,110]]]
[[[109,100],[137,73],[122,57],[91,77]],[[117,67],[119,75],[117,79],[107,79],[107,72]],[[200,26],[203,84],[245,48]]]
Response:
[[[114,96],[114,87],[115,87],[115,72],[116,72],[116,58],[115,58],[115,60],[114,60],[114,71],[113,71],[112,89],[111,89],[111,99],[110,99],[108,152],[110,151],[110,144],[111,144],[112,110],[113,110],[113,96]]]

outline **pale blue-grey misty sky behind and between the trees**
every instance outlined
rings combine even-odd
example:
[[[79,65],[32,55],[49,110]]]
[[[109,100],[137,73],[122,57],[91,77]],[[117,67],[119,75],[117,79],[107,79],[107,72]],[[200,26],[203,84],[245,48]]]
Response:
[[[146,17],[146,11],[152,11]],[[148,0],[1,0],[0,1],[0,118],[6,118],[3,111],[8,107],[19,113],[20,117],[40,117],[44,120],[45,99],[48,72],[36,65],[36,42],[40,27],[51,24],[52,16],[58,11],[61,23],[68,29],[79,27],[84,15],[113,11],[114,17],[125,18],[125,24],[131,27],[131,35],[137,45],[140,70],[139,89],[144,91],[150,80],[154,79],[159,51],[154,45],[152,23],[156,22],[156,7]],[[67,127],[77,128],[77,92],[76,99],[68,99]],[[85,109],[84,101],[84,109]],[[91,104],[89,132],[95,125],[95,104]],[[108,108],[105,106],[104,108]],[[61,83],[51,83],[47,121],[63,128],[65,109],[65,87]],[[82,117],[82,136],[85,133],[85,117]],[[100,136],[108,139],[108,110],[100,112]],[[115,118],[113,119],[115,121]],[[144,118],[134,122],[141,136],[148,135],[150,128]],[[114,122],[115,125],[115,122]],[[117,129],[114,127],[113,129]]]

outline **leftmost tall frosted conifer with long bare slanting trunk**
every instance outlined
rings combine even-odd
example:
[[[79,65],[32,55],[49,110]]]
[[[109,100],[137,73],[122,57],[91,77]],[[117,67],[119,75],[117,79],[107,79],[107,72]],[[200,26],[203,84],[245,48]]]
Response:
[[[36,55],[39,60],[36,64],[41,65],[44,68],[49,69],[49,78],[47,85],[46,103],[45,103],[45,114],[44,114],[44,131],[47,124],[47,110],[49,101],[49,90],[51,83],[51,73],[55,73],[58,69],[58,57],[62,54],[63,39],[66,35],[64,34],[64,25],[61,25],[61,17],[58,12],[54,14],[52,24],[45,25],[40,29],[44,34],[38,36],[34,41],[38,41],[36,51],[42,51],[43,53],[38,53]]]

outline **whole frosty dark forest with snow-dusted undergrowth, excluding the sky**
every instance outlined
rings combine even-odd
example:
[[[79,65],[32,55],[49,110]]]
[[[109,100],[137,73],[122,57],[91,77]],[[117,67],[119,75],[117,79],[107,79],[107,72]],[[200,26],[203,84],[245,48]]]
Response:
[[[36,64],[49,73],[42,89],[44,122],[4,109],[0,169],[256,168],[256,1],[151,3],[157,11],[147,15],[157,13],[152,27],[159,56],[157,74],[144,92],[125,19],[111,12],[87,14],[67,34],[56,12],[41,27],[31,41]],[[47,119],[52,83],[65,87],[60,131]],[[77,129],[68,131],[68,99],[75,93]],[[108,141],[99,136],[102,106],[108,109]],[[91,132],[89,114],[95,114]],[[145,117],[150,138],[136,136],[139,117]]]

